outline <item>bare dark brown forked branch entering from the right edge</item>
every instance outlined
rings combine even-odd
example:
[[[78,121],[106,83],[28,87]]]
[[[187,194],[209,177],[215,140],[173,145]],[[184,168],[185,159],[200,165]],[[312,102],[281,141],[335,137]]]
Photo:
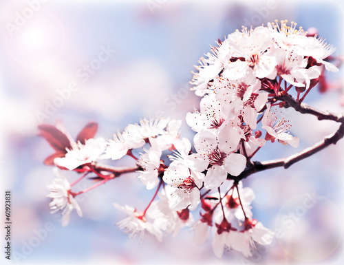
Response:
[[[303,160],[305,158],[308,158],[309,156],[312,156],[314,153],[317,153],[324,149],[325,147],[328,147],[329,145],[336,145],[336,142],[343,138],[344,136],[344,115],[343,114],[332,114],[330,112],[321,112],[318,109],[314,109],[313,107],[310,107],[309,105],[305,103],[301,103],[300,105],[288,94],[285,96],[279,96],[279,100],[285,101],[288,105],[285,107],[292,107],[297,112],[300,112],[301,114],[312,114],[318,118],[318,120],[333,120],[337,123],[341,123],[339,128],[336,132],[333,134],[330,134],[329,136],[325,136],[323,140],[317,142],[316,144],[312,145],[311,147],[308,147],[306,149],[303,149],[303,151],[300,151],[299,153],[295,153],[292,156],[288,156],[286,158],[281,159],[275,159],[275,160],[268,160],[263,162],[251,162],[246,169],[239,174],[239,176],[231,176],[228,174],[227,178],[230,180],[242,180],[244,178],[247,178],[252,173],[257,173],[259,171],[264,171],[266,169],[273,169],[275,167],[284,167],[285,169],[288,169],[291,165],[294,163]]]

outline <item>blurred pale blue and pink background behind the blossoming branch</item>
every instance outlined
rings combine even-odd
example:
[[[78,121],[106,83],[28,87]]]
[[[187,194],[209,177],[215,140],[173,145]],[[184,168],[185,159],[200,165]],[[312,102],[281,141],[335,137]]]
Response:
[[[135,174],[80,196],[83,218],[73,212],[62,227],[45,198],[45,185],[55,176],[43,160],[53,150],[36,136],[37,125],[53,125],[58,118],[73,137],[95,120],[97,136],[111,138],[140,118],[171,116],[182,119],[182,136],[192,139],[184,117],[198,108],[200,98],[189,91],[189,81],[210,45],[241,25],[288,19],[305,30],[316,28],[337,47],[335,55],[343,56],[344,5],[339,2],[1,0],[0,176],[1,192],[12,191],[10,263],[343,264],[344,140],[288,170],[270,169],[245,180],[256,193],[254,218],[277,237],[250,259],[233,251],[217,259],[211,242],[195,246],[188,229],[162,244],[148,234],[144,242],[128,240],[117,229],[124,215],[113,202],[144,209],[153,195]],[[327,81],[327,93],[315,87],[305,102],[343,112],[343,70],[327,75]],[[301,139],[300,147],[271,145],[257,153],[257,160],[301,151],[338,127],[289,109],[282,114],[290,119],[291,134]],[[78,177],[66,175],[70,182]],[[88,185],[80,182],[78,189]]]

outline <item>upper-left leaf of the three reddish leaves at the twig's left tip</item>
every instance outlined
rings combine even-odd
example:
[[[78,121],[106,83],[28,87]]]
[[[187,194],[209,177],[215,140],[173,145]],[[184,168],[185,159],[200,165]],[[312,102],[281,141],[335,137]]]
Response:
[[[39,129],[41,130],[39,135],[45,138],[45,140],[47,140],[51,147],[56,151],[65,152],[66,148],[72,148],[67,136],[65,136],[65,134],[63,134],[60,130],[56,129],[56,127],[43,124],[39,125]]]

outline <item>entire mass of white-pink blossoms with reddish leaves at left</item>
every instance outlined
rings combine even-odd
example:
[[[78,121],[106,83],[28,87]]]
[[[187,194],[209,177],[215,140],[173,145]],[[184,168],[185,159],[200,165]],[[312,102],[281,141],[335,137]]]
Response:
[[[334,47],[296,26],[281,21],[237,30],[200,59],[191,81],[195,94],[202,96],[200,109],[186,114],[196,133],[193,145],[180,136],[182,121],[170,118],[142,119],[111,139],[94,138],[96,123],[86,125],[76,140],[59,122],[41,125],[41,136],[56,151],[45,164],[82,174],[76,182],[95,174],[94,186],[73,192],[76,182],[69,184],[56,169],[59,179],[47,187],[52,212],[61,209],[66,225],[73,209],[82,215],[76,195],[136,172],[155,194],[142,211],[114,203],[128,215],[118,227],[129,237],[147,231],[162,241],[189,226],[196,244],[212,238],[217,257],[224,249],[248,257],[256,244],[270,244],[273,233],[253,218],[255,194],[243,187],[243,174],[268,141],[298,147],[299,138],[288,132],[288,120],[277,111],[286,106],[283,96],[294,87],[301,103],[324,69],[337,70],[326,61]],[[125,156],[133,159],[133,167],[100,165],[101,160]],[[191,213],[197,209],[200,218]]]

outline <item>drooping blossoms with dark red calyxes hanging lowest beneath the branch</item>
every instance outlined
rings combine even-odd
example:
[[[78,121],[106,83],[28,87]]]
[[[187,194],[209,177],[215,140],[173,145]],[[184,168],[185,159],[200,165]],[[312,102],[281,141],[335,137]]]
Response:
[[[202,199],[204,213],[195,224],[193,241],[195,244],[204,243],[208,240],[210,230],[213,234],[213,251],[217,257],[222,257],[224,248],[233,248],[248,257],[252,255],[251,248],[256,243],[271,244],[274,233],[252,219],[250,204],[255,198],[252,189],[242,188],[241,182],[231,181],[230,186],[224,194],[215,193]],[[219,204],[221,207],[217,207]]]

